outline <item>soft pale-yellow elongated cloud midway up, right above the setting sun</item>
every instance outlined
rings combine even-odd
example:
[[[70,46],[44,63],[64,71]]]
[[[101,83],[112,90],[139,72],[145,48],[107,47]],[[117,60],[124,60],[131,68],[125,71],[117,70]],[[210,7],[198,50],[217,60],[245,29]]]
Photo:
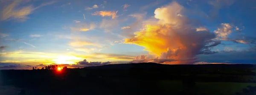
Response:
[[[75,40],[75,41],[71,41],[69,43],[70,46],[73,47],[83,47],[83,46],[95,46],[95,47],[99,47],[101,48],[102,46],[96,43],[92,43],[90,41],[81,41],[81,40]]]

